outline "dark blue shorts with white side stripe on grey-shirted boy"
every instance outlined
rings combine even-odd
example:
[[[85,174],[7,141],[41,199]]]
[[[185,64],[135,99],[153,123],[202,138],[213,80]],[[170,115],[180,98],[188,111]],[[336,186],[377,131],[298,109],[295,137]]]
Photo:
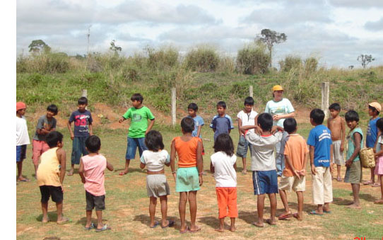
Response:
[[[253,171],[254,195],[278,193],[276,170]]]

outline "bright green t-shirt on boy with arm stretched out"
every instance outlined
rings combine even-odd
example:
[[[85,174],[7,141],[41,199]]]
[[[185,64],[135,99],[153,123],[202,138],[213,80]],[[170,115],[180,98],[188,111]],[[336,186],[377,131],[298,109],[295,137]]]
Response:
[[[131,119],[128,137],[141,138],[145,137],[145,132],[148,129],[148,119],[154,120],[154,116],[149,108],[129,108],[123,118]]]

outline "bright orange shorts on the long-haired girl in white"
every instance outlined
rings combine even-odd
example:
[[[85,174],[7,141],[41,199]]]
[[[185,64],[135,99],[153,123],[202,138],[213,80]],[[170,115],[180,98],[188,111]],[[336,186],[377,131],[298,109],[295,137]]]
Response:
[[[217,188],[218,217],[238,217],[237,188]]]

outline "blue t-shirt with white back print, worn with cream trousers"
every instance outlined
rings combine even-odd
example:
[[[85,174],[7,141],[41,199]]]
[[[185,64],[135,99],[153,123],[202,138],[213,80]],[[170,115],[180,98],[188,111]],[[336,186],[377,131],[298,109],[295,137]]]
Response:
[[[314,166],[330,166],[331,131],[324,125],[317,125],[310,131],[307,145],[314,146]]]

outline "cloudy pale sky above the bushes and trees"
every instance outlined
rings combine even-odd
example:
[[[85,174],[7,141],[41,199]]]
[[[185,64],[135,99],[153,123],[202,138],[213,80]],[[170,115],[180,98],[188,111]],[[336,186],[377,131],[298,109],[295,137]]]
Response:
[[[106,52],[112,40],[122,54],[147,45],[171,45],[179,52],[201,44],[221,55],[254,42],[261,30],[285,33],[274,46],[273,66],[287,55],[317,57],[322,67],[383,65],[382,0],[18,0],[16,52],[28,54],[32,40],[69,55]]]

